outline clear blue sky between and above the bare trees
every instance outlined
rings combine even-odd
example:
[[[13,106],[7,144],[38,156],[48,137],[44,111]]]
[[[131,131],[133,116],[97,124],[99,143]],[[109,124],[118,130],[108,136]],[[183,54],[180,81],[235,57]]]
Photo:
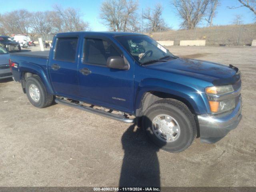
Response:
[[[45,11],[53,10],[54,4],[59,4],[63,8],[73,7],[80,9],[83,14],[83,19],[90,24],[93,31],[107,31],[108,28],[104,26],[100,20],[100,5],[104,0],[0,0],[0,13],[10,12],[18,9],[26,9],[28,11]],[[179,29],[181,20],[178,18],[175,10],[170,5],[170,0],[138,0],[140,13],[138,20],[142,20],[142,9],[146,10],[148,7],[153,7],[156,3],[161,3],[164,7],[162,14],[163,19],[172,27],[172,29]],[[239,14],[243,18],[244,24],[254,22],[255,15],[248,8],[241,7],[238,9],[228,9],[227,6],[240,6],[238,0],[220,0],[220,6],[217,9],[217,15],[213,19],[214,25],[227,25],[231,24],[235,14]],[[144,21],[145,22],[145,21]],[[202,26],[202,25],[201,25]]]

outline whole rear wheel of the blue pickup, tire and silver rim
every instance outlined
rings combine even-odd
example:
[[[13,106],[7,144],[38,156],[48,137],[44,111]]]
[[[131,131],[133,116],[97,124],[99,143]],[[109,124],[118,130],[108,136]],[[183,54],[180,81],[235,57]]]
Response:
[[[48,94],[39,77],[29,77],[25,87],[28,100],[35,107],[44,108],[52,104],[54,97]]]

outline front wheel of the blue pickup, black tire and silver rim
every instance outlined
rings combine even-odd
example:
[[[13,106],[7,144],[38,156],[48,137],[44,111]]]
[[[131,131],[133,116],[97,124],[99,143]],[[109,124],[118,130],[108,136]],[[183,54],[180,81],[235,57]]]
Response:
[[[196,138],[196,123],[188,107],[174,99],[162,99],[145,111],[142,127],[154,144],[169,152],[181,152]]]

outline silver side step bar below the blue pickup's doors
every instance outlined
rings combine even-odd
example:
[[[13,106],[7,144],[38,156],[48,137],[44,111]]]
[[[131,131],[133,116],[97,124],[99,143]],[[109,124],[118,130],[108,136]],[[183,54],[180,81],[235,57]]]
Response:
[[[56,98],[55,102],[58,104],[64,104],[66,106],[70,106],[70,107],[74,107],[80,110],[84,110],[90,113],[94,113],[94,114],[98,114],[104,117],[108,117],[117,121],[121,121],[124,123],[134,123],[135,122],[135,118],[126,118],[124,115],[118,115],[118,114],[113,114],[111,112],[106,112],[104,110],[100,110],[100,109],[95,109],[92,107],[88,107],[88,106],[84,106],[82,104],[77,104],[77,103],[73,103],[73,102],[68,102],[67,100],[63,100],[60,98]]]

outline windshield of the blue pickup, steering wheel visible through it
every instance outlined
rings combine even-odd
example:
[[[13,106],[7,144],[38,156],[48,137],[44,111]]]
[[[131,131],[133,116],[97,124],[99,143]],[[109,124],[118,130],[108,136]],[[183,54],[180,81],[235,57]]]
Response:
[[[146,35],[123,35],[115,38],[140,64],[176,58],[166,48]]]

